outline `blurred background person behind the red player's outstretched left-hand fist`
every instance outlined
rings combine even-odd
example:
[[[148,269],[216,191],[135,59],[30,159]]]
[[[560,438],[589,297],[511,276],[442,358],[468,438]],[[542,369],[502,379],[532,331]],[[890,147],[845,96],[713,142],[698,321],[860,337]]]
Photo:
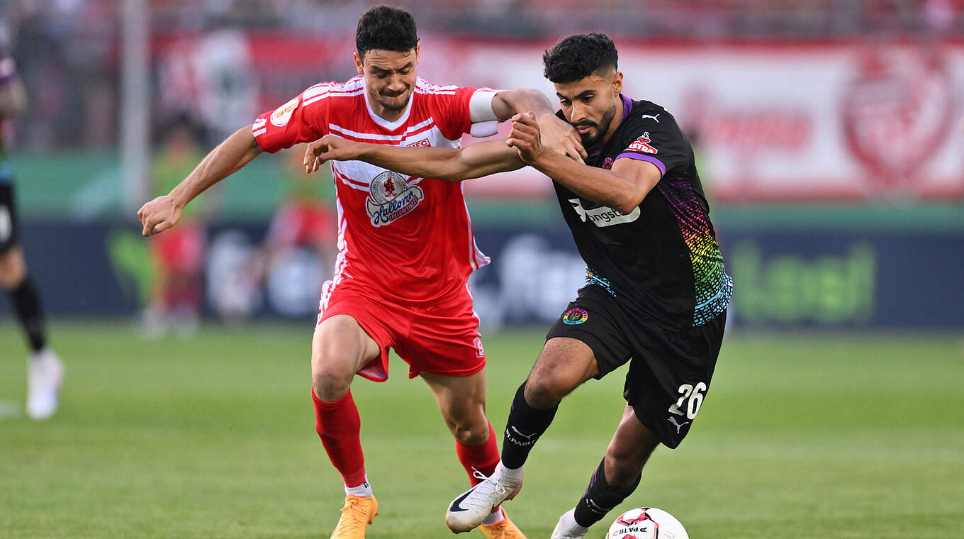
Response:
[[[194,170],[203,154],[199,127],[186,114],[174,117],[162,131],[164,137],[152,172],[157,193],[166,194]],[[209,201],[199,200],[185,208],[177,229],[152,238],[150,252],[156,279],[141,318],[145,337],[160,337],[169,329],[180,337],[190,337],[198,330],[206,239],[204,213],[208,210],[203,202]]]

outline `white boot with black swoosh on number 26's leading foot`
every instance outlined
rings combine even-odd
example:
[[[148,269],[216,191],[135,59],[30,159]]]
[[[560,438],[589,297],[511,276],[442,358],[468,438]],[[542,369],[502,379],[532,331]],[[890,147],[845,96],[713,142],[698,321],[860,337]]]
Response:
[[[515,498],[522,490],[522,469],[500,473],[503,471],[502,463],[495,467],[491,477],[475,470],[472,475],[481,481],[452,500],[445,511],[445,526],[455,533],[472,530],[503,501]]]

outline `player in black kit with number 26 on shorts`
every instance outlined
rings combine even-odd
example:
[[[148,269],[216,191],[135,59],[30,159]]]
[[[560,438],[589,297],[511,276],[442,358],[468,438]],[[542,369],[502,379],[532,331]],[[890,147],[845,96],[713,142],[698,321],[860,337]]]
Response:
[[[463,149],[388,148],[326,137],[305,164],[362,159],[413,175],[466,178],[523,162],[553,180],[586,285],[547,335],[516,392],[495,473],[454,499],[453,531],[478,526],[522,486],[522,465],[562,398],[629,363],[627,401],[605,456],[552,539],[579,539],[639,484],[656,446],[680,445],[710,389],[733,293],[710,223],[693,151],[672,115],[622,94],[616,47],[602,34],[570,36],[547,51],[546,76],[589,155],[545,148],[529,115],[505,142]],[[506,143],[508,144],[507,148]]]

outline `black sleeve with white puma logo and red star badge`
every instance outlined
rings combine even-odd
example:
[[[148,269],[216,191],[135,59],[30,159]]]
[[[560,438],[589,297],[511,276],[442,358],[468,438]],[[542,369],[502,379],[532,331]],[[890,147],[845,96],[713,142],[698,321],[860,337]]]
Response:
[[[661,175],[677,167],[685,167],[692,159],[692,149],[683,131],[666,111],[633,111],[623,131],[623,151],[616,159],[629,158],[656,165]]]

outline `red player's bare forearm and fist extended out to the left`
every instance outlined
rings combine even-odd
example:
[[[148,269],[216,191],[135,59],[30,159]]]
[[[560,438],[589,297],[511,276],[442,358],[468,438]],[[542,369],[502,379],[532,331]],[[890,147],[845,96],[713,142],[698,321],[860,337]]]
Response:
[[[262,149],[254,141],[251,125],[242,127],[211,150],[171,193],[147,202],[137,211],[146,236],[170,229],[181,210],[205,189],[232,175],[257,157]]]

